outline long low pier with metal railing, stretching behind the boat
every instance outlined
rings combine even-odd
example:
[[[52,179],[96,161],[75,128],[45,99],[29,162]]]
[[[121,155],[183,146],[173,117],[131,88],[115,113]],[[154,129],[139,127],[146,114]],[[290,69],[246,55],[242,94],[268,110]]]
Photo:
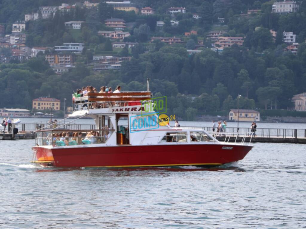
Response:
[[[44,128],[48,124],[42,123],[23,123],[19,124],[16,127],[18,128],[18,133],[2,133],[3,127],[0,127],[0,140],[15,140],[15,139],[35,139],[35,130]],[[59,124],[63,125],[61,129],[69,130],[81,130],[81,129],[95,129],[95,125],[89,124]],[[201,128],[213,134],[219,141],[228,141],[235,142],[241,141],[242,137],[237,136],[237,134],[232,134],[230,138],[225,139],[223,133],[212,132],[212,127],[199,127],[199,126],[185,126],[180,128]],[[250,128],[239,128],[237,127],[227,127],[226,133],[248,133],[248,136],[251,136]],[[227,134],[228,136],[228,134]],[[246,137],[245,141],[249,141],[250,137]],[[273,128],[257,128],[255,137],[252,137],[251,143],[298,143],[306,144],[306,129],[273,129]]]

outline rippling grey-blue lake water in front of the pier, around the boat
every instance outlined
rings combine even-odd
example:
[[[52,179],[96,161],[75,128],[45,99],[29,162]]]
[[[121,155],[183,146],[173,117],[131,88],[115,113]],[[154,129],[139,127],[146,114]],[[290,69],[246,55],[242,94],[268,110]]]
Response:
[[[2,228],[301,228],[305,145],[254,144],[211,169],[34,166],[35,140],[0,141]]]

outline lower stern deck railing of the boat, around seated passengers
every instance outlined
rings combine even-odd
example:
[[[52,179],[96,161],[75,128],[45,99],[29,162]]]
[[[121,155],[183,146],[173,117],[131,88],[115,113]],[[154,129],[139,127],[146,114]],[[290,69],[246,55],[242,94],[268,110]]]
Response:
[[[115,132],[114,129],[87,129],[75,132],[65,129],[40,130],[36,132],[35,144],[37,146],[72,146],[106,143]],[[65,133],[63,136],[63,133]]]

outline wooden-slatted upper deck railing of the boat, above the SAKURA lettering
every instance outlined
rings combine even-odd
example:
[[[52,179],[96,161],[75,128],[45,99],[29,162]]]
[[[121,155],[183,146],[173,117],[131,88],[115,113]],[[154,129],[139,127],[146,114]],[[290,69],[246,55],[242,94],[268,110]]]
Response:
[[[74,111],[141,105],[145,100],[150,100],[152,97],[151,91],[119,93],[89,92],[88,96],[75,97],[75,94],[73,96]]]

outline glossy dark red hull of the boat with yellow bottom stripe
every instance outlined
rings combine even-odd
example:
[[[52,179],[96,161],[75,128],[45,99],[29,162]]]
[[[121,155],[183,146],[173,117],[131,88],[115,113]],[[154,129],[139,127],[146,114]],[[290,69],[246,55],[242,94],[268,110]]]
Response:
[[[214,166],[242,160],[251,149],[230,144],[33,147],[36,162],[56,167]]]

